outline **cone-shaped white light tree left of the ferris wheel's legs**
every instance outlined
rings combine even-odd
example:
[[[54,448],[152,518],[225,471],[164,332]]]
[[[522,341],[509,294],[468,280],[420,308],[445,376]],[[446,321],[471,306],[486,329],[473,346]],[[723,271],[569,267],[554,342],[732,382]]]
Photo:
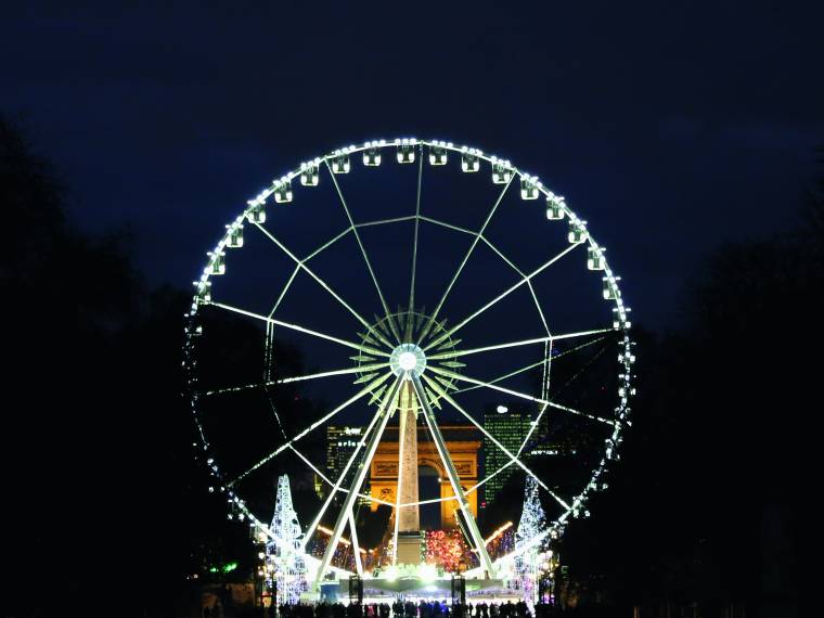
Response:
[[[306,587],[306,563],[300,542],[304,537],[297,513],[292,505],[289,477],[285,474],[278,478],[278,497],[274,503],[274,516],[269,527],[274,539],[266,544],[267,585],[275,588],[275,602],[297,603]]]

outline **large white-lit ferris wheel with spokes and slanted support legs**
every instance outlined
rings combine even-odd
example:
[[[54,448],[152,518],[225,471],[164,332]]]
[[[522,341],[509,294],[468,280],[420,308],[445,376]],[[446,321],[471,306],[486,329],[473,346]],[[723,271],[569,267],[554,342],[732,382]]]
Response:
[[[347,531],[362,571],[363,503],[391,510],[389,564],[403,510],[449,503],[477,568],[494,576],[513,555],[487,550],[485,485],[513,472],[535,479],[550,523],[533,544],[587,516],[606,487],[634,394],[619,281],[564,197],[480,150],[379,140],[302,163],[226,224],[195,281],[183,364],[214,490],[256,533],[298,553],[316,585],[350,572],[335,564]],[[288,350],[300,362],[283,361]],[[481,416],[495,403],[528,421],[516,446]],[[402,432],[410,412],[442,462],[446,497],[404,501],[401,476],[414,471],[402,446],[396,494],[366,489],[390,423]],[[346,422],[363,429],[333,477],[304,447]],[[484,478],[467,482],[454,465],[442,432],[454,422],[495,452]],[[271,502],[260,498],[286,458],[323,485],[299,542],[266,523]]]

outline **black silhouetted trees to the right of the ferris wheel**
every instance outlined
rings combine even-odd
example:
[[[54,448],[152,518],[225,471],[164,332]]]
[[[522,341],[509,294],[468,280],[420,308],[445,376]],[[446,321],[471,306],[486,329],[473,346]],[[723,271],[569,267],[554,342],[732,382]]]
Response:
[[[695,603],[709,615],[730,604],[747,616],[797,615],[823,223],[824,176],[793,232],[708,257],[685,285],[679,327],[635,333],[640,386],[623,459],[562,546],[584,602],[661,616],[692,615]]]

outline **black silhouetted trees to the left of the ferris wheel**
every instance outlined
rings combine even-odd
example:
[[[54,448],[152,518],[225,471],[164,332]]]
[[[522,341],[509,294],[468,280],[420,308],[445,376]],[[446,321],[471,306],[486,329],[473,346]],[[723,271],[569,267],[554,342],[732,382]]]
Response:
[[[189,297],[149,288],[128,233],[80,232],[69,201],[0,117],[2,559],[14,582],[0,613],[169,615],[198,561],[247,551],[193,459],[180,397]]]

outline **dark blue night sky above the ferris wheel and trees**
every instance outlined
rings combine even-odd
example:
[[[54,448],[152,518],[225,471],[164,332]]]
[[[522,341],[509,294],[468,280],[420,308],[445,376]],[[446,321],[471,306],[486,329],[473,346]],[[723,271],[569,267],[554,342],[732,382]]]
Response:
[[[4,4],[0,110],[153,283],[300,160],[417,136],[567,196],[664,326],[713,247],[795,224],[824,143],[820,2],[137,5]]]

